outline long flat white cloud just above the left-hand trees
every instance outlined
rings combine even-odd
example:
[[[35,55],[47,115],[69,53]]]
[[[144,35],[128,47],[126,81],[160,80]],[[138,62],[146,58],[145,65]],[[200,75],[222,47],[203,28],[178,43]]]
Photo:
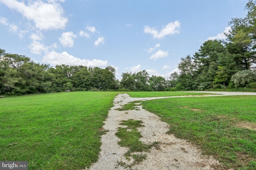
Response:
[[[43,61],[45,63],[49,63],[51,65],[56,64],[66,64],[66,65],[83,65],[83,66],[106,66],[108,64],[108,61],[102,61],[102,60],[86,60],[86,59],[79,59],[76,58],[70,54],[68,54],[66,51],[63,53],[57,53],[55,51],[52,51],[45,55],[43,57]]]

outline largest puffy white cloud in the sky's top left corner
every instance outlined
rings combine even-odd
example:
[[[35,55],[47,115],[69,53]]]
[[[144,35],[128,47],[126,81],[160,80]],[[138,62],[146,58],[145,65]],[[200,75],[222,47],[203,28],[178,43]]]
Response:
[[[64,2],[64,0],[59,0]],[[42,0],[29,0],[28,4],[16,0],[1,0],[8,8],[20,12],[28,20],[35,22],[40,30],[64,29],[68,18],[65,18],[64,11],[57,0],[48,0],[48,3]]]

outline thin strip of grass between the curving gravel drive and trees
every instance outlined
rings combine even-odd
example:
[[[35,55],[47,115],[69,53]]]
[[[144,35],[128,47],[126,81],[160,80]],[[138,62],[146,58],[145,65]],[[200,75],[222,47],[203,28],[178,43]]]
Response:
[[[186,92],[126,92],[132,98],[147,98],[147,97],[166,97],[166,96],[195,96],[206,95],[211,93],[186,93]]]

